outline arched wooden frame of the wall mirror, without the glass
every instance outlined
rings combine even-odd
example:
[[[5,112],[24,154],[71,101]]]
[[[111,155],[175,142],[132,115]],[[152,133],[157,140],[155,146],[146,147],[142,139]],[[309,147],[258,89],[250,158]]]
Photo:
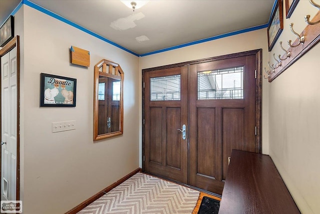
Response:
[[[118,79],[120,83],[119,131],[98,134],[98,86],[99,77]],[[94,92],[93,92],[93,140],[101,140],[123,134],[123,79],[124,73],[119,64],[102,59],[94,66]]]

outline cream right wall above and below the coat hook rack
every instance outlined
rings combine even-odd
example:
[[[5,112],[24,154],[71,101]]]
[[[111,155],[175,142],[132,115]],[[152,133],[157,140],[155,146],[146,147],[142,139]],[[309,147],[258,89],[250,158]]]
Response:
[[[314,1],[320,4],[320,1]],[[294,41],[289,24],[301,33],[307,14],[318,10],[308,1],[299,1],[273,50],[283,54],[278,42]],[[285,11],[283,10],[285,14]],[[319,25],[319,24],[318,24]],[[306,40],[308,37],[306,36]],[[269,154],[302,213],[320,213],[320,44],[269,83]]]

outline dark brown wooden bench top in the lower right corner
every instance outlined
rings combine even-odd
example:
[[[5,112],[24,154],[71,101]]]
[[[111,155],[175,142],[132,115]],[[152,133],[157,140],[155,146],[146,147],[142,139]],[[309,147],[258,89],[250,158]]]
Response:
[[[269,155],[232,150],[219,214],[300,213]]]

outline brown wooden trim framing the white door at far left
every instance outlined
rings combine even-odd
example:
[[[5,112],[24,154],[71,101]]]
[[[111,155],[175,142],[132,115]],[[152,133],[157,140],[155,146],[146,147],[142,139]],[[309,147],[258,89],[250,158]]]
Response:
[[[20,44],[19,44],[19,36],[15,36],[10,42],[8,42],[1,50],[0,50],[0,59],[2,56],[11,51],[14,47],[16,47],[16,74],[17,74],[17,108],[16,108],[16,191],[15,191],[15,200],[20,200]],[[0,68],[1,72],[1,68]],[[0,82],[1,85],[1,82]],[[0,99],[1,103],[1,99]],[[1,111],[0,111],[1,118]],[[1,130],[1,124],[0,124]],[[1,135],[0,135],[1,138]],[[0,139],[1,140],[1,139]],[[0,165],[1,165],[1,152],[0,152]],[[1,174],[1,167],[0,167]]]

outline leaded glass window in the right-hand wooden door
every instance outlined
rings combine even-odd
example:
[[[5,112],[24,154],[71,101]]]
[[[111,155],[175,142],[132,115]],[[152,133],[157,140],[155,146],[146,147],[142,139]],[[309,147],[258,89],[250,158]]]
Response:
[[[198,100],[243,99],[243,66],[197,73]]]

